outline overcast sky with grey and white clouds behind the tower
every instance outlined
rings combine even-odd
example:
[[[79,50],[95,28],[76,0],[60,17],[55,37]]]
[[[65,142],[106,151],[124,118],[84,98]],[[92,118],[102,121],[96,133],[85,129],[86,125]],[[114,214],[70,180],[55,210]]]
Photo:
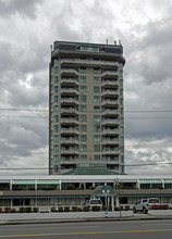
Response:
[[[50,45],[121,39],[125,164],[159,163],[126,173],[171,174],[171,0],[0,0],[0,169],[48,168]],[[48,171],[0,171],[33,174]]]

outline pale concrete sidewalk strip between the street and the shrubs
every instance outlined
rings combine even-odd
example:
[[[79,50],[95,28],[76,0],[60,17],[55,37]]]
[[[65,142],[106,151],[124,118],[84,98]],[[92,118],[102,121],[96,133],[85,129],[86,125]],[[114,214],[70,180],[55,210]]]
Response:
[[[14,224],[44,224],[44,223],[73,223],[73,222],[105,222],[105,221],[147,221],[147,219],[172,219],[171,215],[133,214],[132,211],[122,212],[88,212],[88,213],[23,213],[23,214],[0,214],[1,225]]]

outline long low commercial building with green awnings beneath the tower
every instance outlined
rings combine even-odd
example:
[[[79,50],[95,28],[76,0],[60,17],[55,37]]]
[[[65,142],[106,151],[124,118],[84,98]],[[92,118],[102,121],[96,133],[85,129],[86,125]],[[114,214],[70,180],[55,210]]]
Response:
[[[172,204],[172,176],[54,175],[0,177],[0,207],[83,206],[89,198],[106,205],[133,204],[140,198],[158,197]]]

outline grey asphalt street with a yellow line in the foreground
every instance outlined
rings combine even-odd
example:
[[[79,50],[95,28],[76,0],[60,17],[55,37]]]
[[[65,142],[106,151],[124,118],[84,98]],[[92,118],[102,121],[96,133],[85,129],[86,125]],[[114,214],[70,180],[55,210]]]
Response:
[[[1,238],[172,238],[172,219],[1,225]]]

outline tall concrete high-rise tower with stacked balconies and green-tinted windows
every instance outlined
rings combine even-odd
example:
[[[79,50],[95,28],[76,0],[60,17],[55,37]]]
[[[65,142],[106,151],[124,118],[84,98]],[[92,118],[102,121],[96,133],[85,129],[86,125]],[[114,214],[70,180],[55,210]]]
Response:
[[[124,174],[123,47],[54,41],[49,174]]]

